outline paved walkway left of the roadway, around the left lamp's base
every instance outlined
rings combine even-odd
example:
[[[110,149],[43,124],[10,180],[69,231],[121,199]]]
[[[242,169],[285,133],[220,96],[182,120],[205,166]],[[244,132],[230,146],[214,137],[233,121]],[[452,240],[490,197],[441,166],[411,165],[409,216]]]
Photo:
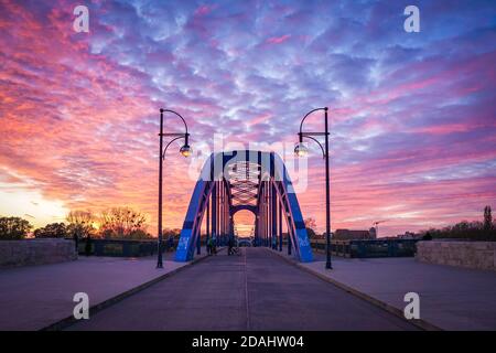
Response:
[[[40,330],[73,314],[76,292],[86,292],[93,307],[187,263],[175,263],[173,253],[166,253],[163,269],[155,265],[157,257],[83,256],[69,263],[1,269],[0,330]]]

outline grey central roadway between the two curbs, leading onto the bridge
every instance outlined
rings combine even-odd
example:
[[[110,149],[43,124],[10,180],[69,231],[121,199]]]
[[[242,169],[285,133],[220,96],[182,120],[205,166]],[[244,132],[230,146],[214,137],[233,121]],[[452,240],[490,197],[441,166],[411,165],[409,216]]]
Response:
[[[414,330],[263,248],[225,253],[69,330]]]

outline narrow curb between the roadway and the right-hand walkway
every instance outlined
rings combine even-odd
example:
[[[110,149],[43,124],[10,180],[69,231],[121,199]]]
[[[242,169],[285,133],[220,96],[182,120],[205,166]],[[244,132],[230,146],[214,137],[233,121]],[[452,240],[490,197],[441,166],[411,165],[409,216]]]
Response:
[[[355,289],[353,287],[349,287],[349,286],[347,286],[345,284],[342,284],[342,282],[339,282],[339,281],[337,281],[337,280],[335,280],[335,279],[333,279],[331,277],[322,275],[322,274],[320,274],[320,272],[317,272],[317,271],[315,271],[315,270],[313,270],[313,269],[311,269],[311,268],[309,268],[306,266],[303,266],[300,263],[296,263],[295,260],[293,260],[293,259],[291,259],[291,258],[289,258],[289,257],[287,257],[287,256],[284,256],[282,254],[280,254],[279,252],[274,252],[274,250],[271,250],[271,249],[268,249],[268,250],[271,252],[271,253],[277,254],[279,257],[284,259],[289,264],[292,264],[292,265],[296,266],[298,268],[301,268],[302,270],[304,270],[304,271],[306,271],[306,272],[309,272],[311,275],[314,275],[314,276],[319,277],[320,279],[322,279],[322,280],[324,280],[324,281],[326,281],[328,284],[332,284],[332,285],[334,285],[334,286],[336,286],[336,287],[347,291],[348,293],[351,293],[351,295],[353,295],[355,297],[358,297],[358,298],[360,298],[360,299],[363,299],[363,300],[365,300],[365,301],[367,301],[367,302],[369,302],[369,303],[371,303],[371,304],[374,304],[374,306],[376,306],[376,307],[378,307],[378,308],[380,308],[382,310],[386,310],[386,311],[392,313],[393,315],[405,320],[406,322],[409,322],[409,323],[418,327],[421,330],[424,330],[424,331],[443,331],[443,329],[441,329],[441,328],[439,328],[439,327],[436,327],[436,325],[434,325],[434,324],[432,324],[432,323],[430,323],[430,322],[428,322],[428,321],[425,321],[423,319],[407,320],[405,318],[405,315],[403,315],[403,311],[402,310],[400,310],[400,309],[398,309],[398,308],[396,308],[396,307],[393,307],[391,304],[388,304],[387,302],[384,302],[384,301],[381,301],[379,299],[376,299],[376,298],[374,298],[374,297],[371,297],[371,296],[369,296],[367,293],[364,293],[364,292],[362,292],[362,291],[359,291],[359,290],[357,290],[357,289]]]

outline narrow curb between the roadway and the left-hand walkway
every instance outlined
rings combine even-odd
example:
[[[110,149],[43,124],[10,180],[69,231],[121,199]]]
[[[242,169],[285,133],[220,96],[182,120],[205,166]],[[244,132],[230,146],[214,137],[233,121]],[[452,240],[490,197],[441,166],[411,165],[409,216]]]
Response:
[[[223,250],[223,249],[224,248],[220,248],[219,252]],[[209,256],[206,255],[206,256],[202,256],[200,258],[195,258],[195,259],[191,260],[190,263],[187,263],[186,265],[181,266],[179,268],[175,268],[175,269],[173,269],[170,272],[163,274],[162,276],[155,277],[155,278],[149,280],[148,282],[141,284],[138,287],[131,288],[131,289],[129,289],[129,290],[127,290],[125,292],[121,292],[120,295],[117,295],[117,296],[111,297],[109,299],[106,299],[106,300],[104,300],[104,301],[101,301],[101,302],[99,302],[99,303],[97,303],[97,304],[95,304],[93,307],[89,307],[89,314],[94,315],[97,312],[99,312],[99,311],[101,311],[101,310],[104,310],[104,309],[106,309],[108,307],[111,307],[115,303],[118,303],[119,301],[122,301],[123,299],[126,299],[128,297],[131,297],[132,295],[136,295],[136,293],[138,293],[138,292],[140,292],[140,291],[142,291],[142,290],[144,290],[144,289],[147,289],[147,288],[149,288],[151,286],[153,286],[154,284],[160,282],[161,280],[163,280],[163,279],[165,279],[168,277],[171,277],[171,276],[182,271],[183,269],[188,268],[192,265],[195,265],[195,264],[197,264],[197,263],[200,263],[200,261],[202,261],[202,260],[204,260],[204,259],[206,259]],[[69,315],[69,317],[64,318],[62,320],[58,320],[58,321],[56,321],[56,322],[54,322],[52,324],[48,324],[48,325],[46,325],[44,328],[41,328],[37,331],[61,331],[61,330],[72,325],[72,324],[74,324],[74,323],[76,323],[79,320],[76,320],[74,318],[74,315]]]

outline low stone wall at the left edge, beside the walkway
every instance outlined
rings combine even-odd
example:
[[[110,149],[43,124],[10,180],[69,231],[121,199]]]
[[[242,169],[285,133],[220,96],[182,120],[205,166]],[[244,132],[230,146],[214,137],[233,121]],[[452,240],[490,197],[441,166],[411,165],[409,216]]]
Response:
[[[77,259],[73,240],[0,240],[0,267],[63,263]]]

